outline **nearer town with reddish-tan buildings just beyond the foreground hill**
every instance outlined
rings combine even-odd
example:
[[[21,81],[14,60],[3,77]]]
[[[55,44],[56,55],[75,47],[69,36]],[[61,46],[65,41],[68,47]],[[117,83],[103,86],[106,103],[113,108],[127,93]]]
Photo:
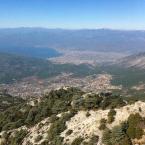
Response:
[[[100,74],[83,78],[73,77],[72,74],[62,74],[51,79],[29,77],[13,84],[1,84],[0,90],[23,99],[41,97],[45,92],[64,86],[78,87],[84,91],[103,91],[121,89],[121,86],[111,85],[111,75]]]

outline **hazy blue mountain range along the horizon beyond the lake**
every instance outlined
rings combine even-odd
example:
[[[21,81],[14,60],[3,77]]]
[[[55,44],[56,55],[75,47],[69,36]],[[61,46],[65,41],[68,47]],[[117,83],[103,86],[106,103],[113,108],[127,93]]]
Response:
[[[0,51],[22,47],[136,53],[145,51],[145,31],[44,28],[0,29]]]

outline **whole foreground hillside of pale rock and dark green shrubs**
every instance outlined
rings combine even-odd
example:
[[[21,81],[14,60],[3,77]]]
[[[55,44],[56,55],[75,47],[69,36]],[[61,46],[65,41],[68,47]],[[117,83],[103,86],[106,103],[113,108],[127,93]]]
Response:
[[[110,145],[116,145],[115,141],[119,145],[145,143],[144,112],[145,103],[141,101],[135,102],[131,98],[116,96],[109,92],[94,94],[64,87],[45,94],[38,102],[35,100],[34,103],[23,104],[0,113],[0,143],[1,145],[108,145],[109,141]],[[109,138],[106,136],[107,131]]]

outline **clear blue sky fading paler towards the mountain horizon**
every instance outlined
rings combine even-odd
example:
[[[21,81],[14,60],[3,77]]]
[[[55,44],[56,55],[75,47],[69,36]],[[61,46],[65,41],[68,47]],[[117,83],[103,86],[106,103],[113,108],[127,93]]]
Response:
[[[0,0],[0,27],[145,30],[145,0]]]

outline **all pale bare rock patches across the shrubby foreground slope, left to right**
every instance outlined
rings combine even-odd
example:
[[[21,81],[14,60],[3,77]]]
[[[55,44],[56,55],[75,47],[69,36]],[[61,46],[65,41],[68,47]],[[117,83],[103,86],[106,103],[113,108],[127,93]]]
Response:
[[[142,111],[139,111],[140,109]],[[142,117],[145,117],[145,102],[138,101],[134,104],[117,108],[115,109],[115,111],[116,115],[114,122],[112,124],[106,124],[109,129],[112,129],[114,126],[119,125],[123,121],[126,121],[130,114],[139,113]],[[73,116],[69,121],[66,122],[67,128],[60,134],[60,136],[64,138],[64,143],[70,145],[73,140],[78,137],[82,137],[84,141],[88,141],[93,135],[96,135],[99,136],[97,145],[102,145],[103,131],[99,129],[100,120],[102,118],[107,119],[108,112],[109,109],[100,109],[96,111],[91,110],[89,111],[89,116],[87,116],[87,111],[79,111],[75,116]],[[59,114],[58,116],[60,117],[61,114]],[[47,132],[50,125],[51,123],[49,122],[49,118],[46,118],[31,128],[22,126],[16,129],[25,129],[28,131],[27,136],[23,139],[22,145],[27,145],[28,143],[37,145],[47,140]],[[11,132],[14,132],[16,130],[11,130]],[[69,130],[71,130],[71,134],[68,135],[66,133]],[[0,133],[1,136],[2,134],[3,132]],[[37,140],[38,138],[40,138],[40,140]],[[142,140],[145,141],[144,136]],[[3,141],[4,139],[1,137],[0,143],[2,143]]]

